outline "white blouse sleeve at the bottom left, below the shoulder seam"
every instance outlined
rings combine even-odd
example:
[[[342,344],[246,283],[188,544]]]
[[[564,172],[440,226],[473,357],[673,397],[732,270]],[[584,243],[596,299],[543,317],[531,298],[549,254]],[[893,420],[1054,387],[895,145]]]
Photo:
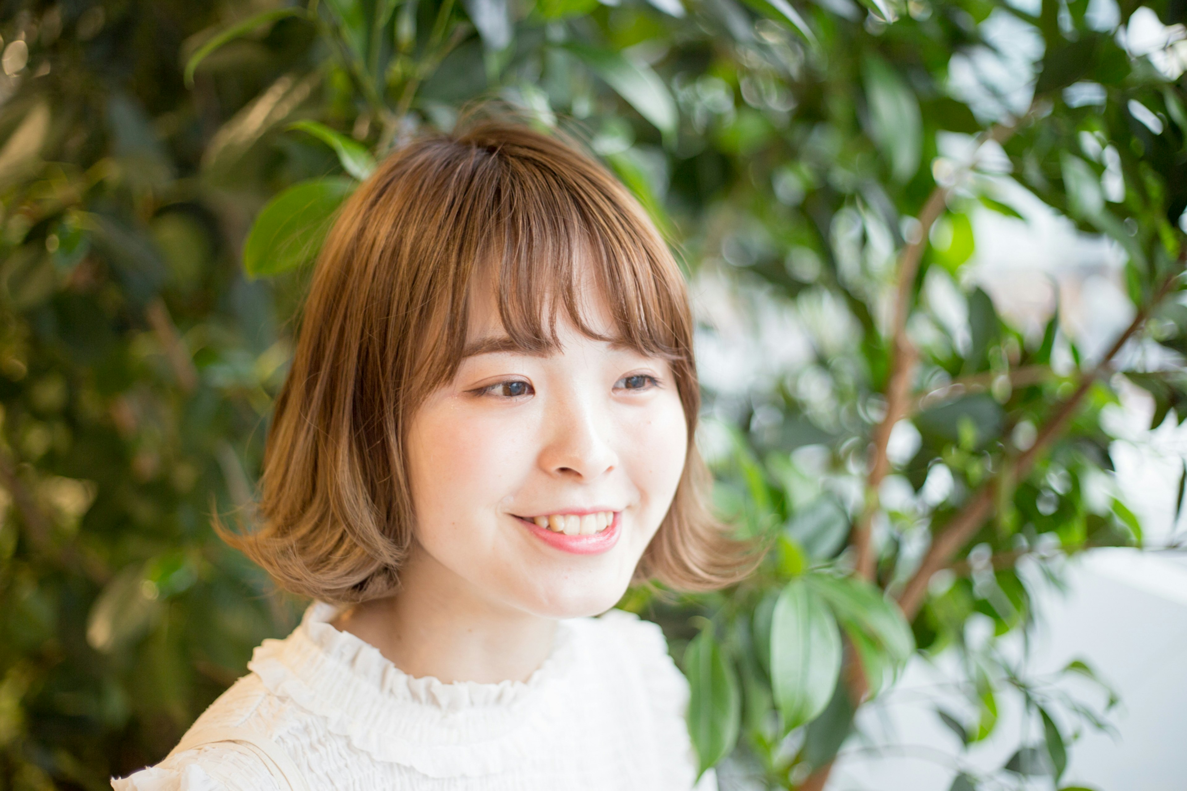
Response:
[[[170,755],[157,766],[112,778],[114,791],[288,791],[267,764],[234,742],[204,745]]]

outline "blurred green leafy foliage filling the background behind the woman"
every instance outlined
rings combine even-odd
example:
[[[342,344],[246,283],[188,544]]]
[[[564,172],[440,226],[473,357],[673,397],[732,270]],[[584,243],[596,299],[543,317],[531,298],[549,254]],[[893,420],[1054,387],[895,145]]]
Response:
[[[1151,10],[1187,21],[1176,0]],[[1118,375],[1155,397],[1156,423],[1187,415],[1187,53],[1126,50],[1135,11],[5,4],[0,786],[101,789],[158,760],[294,625],[300,603],[209,515],[252,500],[305,264],[374,158],[497,96],[576,126],[691,277],[761,290],[812,340],[774,384],[706,393],[717,500],[770,543],[763,567],[722,594],[623,602],[671,638],[703,765],[724,761],[723,786],[821,787],[907,657],[954,652],[969,705],[940,716],[964,742],[994,732],[1005,690],[1033,727],[953,790],[1059,787],[1109,695],[1030,679],[965,625],[1030,628],[1022,557],[1055,575],[1068,553],[1142,544],[1130,511],[1093,495]],[[1123,251],[1136,318],[1112,350],[1081,355],[1058,317],[1032,336],[966,285],[970,211],[1017,216],[1007,182]],[[967,327],[921,291],[929,273],[957,285]],[[901,420],[920,442],[896,462]],[[919,492],[937,470],[952,479],[939,501],[880,502],[888,475]]]

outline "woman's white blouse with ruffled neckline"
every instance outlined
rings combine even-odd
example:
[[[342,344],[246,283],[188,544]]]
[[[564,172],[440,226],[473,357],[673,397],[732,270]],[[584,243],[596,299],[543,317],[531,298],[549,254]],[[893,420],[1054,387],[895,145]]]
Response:
[[[311,789],[688,791],[688,686],[654,624],[622,610],[559,622],[526,682],[413,678],[315,602],[195,728],[271,738]],[[174,752],[115,791],[287,791],[237,742]],[[706,772],[697,791],[716,791]]]

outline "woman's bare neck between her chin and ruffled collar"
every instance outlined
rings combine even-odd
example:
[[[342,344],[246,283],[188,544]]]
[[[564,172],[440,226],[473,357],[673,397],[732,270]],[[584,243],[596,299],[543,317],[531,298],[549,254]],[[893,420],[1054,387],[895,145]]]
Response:
[[[482,599],[418,549],[400,569],[399,593],[356,605],[331,625],[415,678],[527,681],[552,651],[557,621]]]

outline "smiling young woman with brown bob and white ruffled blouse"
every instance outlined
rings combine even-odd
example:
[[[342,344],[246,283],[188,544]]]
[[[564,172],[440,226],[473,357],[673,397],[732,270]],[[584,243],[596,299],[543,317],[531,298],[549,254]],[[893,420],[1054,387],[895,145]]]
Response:
[[[326,240],[262,526],[227,536],[313,603],[114,787],[687,791],[687,684],[611,607],[749,565],[698,406],[684,279],[603,167],[497,120],[401,148]]]

